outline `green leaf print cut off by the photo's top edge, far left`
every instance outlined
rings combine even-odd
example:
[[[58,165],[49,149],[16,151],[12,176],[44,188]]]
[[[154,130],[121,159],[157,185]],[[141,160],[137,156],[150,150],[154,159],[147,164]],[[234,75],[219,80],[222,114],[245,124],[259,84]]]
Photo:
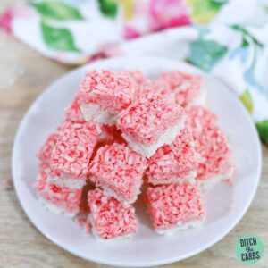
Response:
[[[63,1],[41,1],[31,4],[44,20],[54,21],[82,21],[84,20],[80,11],[71,4]]]

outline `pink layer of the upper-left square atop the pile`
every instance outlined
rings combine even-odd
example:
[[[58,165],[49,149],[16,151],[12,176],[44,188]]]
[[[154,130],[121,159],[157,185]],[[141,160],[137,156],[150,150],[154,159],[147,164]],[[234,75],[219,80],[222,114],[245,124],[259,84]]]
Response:
[[[121,111],[134,100],[136,83],[126,71],[88,71],[79,92],[80,104]]]

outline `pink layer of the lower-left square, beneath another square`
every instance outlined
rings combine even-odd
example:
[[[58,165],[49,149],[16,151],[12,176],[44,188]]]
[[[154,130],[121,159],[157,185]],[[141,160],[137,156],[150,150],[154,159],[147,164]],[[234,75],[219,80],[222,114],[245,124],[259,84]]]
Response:
[[[43,197],[69,214],[79,212],[82,189],[59,187],[54,183],[48,183],[46,164],[40,166],[36,187],[39,197]]]

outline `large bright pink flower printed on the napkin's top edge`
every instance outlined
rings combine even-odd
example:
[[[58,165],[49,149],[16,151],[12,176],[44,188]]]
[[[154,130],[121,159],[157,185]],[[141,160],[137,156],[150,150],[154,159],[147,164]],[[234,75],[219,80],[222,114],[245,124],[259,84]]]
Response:
[[[191,24],[183,0],[150,0],[149,16],[151,30]]]

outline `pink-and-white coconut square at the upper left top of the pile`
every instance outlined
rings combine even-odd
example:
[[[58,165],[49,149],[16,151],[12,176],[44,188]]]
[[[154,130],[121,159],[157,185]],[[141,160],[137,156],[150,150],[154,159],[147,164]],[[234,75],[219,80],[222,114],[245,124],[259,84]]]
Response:
[[[113,125],[118,113],[132,103],[136,83],[128,72],[88,71],[78,94],[86,121]]]

